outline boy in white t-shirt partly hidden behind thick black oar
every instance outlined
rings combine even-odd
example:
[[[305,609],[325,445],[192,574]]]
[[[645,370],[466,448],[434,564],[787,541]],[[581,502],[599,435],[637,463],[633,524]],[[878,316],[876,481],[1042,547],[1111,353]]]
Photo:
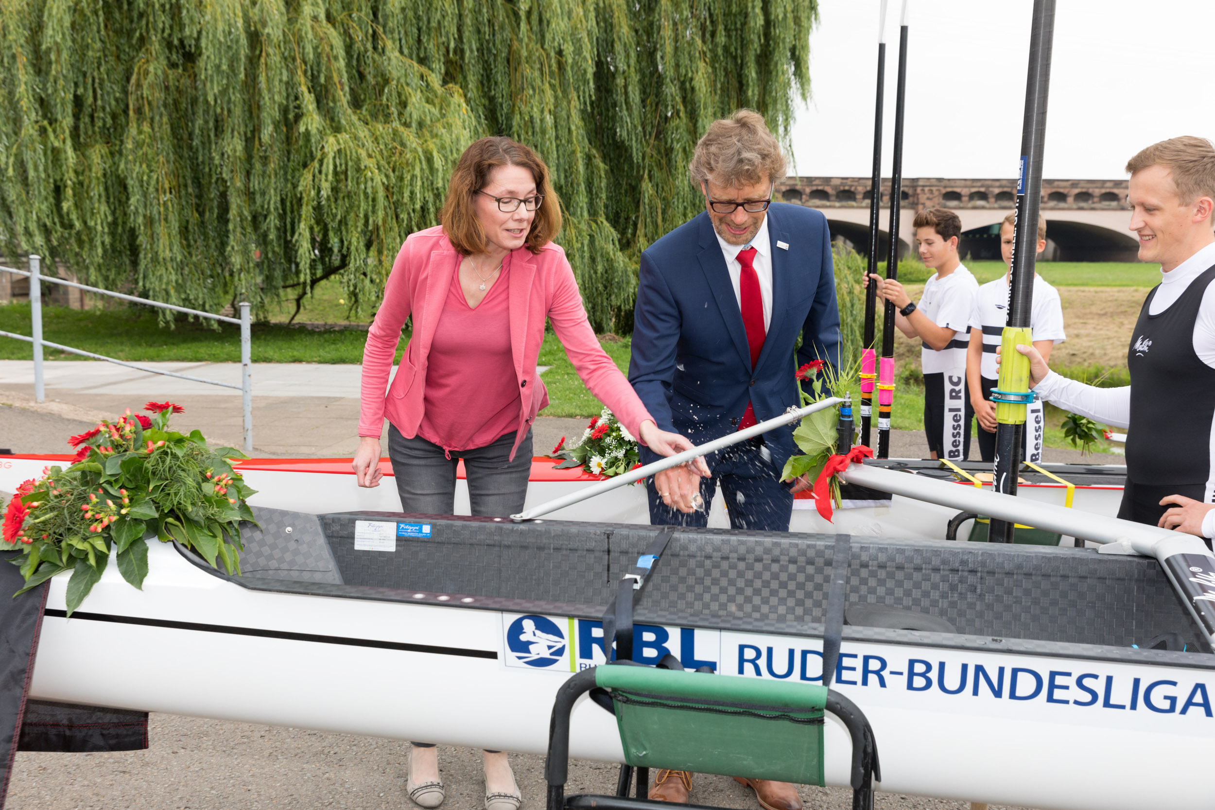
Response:
[[[1010,214],[1000,223],[1000,253],[1004,264],[1012,261],[1012,233],[1016,215]],[[1038,253],[1046,248],[1046,220],[1038,217]],[[1000,346],[1004,327],[1008,323],[1008,272],[1002,278],[979,287],[971,313],[971,342],[966,352],[966,379],[971,390],[971,406],[978,423],[979,454],[984,461],[995,460],[995,403],[991,389],[996,386],[1000,369],[995,362],[995,350]],[[1034,305],[1029,313],[1034,349],[1042,357],[1051,356],[1051,349],[1062,342],[1063,304],[1058,290],[1034,273]],[[1045,418],[1041,401],[1034,402],[1025,413],[1025,447],[1022,458],[1027,461],[1042,460],[1042,431]]]

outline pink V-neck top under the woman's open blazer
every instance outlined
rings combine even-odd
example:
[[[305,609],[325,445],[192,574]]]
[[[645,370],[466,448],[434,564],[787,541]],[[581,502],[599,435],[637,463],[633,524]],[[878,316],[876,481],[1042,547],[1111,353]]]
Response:
[[[510,358],[510,256],[476,308],[459,284],[459,262],[430,342],[425,410],[418,435],[445,451],[485,447],[519,424]],[[459,403],[452,407],[451,403]],[[448,454],[447,458],[451,458]]]

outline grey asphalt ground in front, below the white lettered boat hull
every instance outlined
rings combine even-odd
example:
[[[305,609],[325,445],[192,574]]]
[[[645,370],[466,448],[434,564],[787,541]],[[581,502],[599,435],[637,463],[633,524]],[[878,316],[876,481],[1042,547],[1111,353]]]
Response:
[[[153,714],[149,748],[115,754],[18,753],[9,810],[236,810],[269,808],[409,809],[406,742],[244,723]],[[445,810],[480,810],[481,753],[439,749]],[[544,806],[544,761],[512,755],[524,810]],[[615,765],[575,761],[567,793],[612,793]],[[847,810],[852,791],[801,788],[807,810]],[[696,775],[691,800],[755,810],[751,791],[724,776]],[[967,803],[880,793],[881,810],[966,810]],[[994,805],[993,805],[994,808]]]

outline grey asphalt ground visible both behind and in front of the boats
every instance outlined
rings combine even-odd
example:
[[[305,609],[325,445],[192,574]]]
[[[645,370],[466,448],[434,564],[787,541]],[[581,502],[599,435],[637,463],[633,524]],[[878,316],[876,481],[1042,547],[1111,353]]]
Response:
[[[32,386],[0,386],[0,449],[16,453],[66,453],[67,438],[139,407],[145,396],[55,390],[58,402],[35,406]],[[187,408],[180,423],[209,437],[231,442],[239,436],[239,398],[188,393],[176,400]],[[6,404],[7,403],[7,404]],[[256,397],[255,455],[350,455],[357,444],[358,403],[350,397],[278,395]],[[565,435],[581,435],[583,419],[537,420],[537,453]],[[895,431],[893,455],[919,457],[923,434]],[[1049,451],[1047,460],[1079,460],[1068,451]],[[1059,458],[1063,455],[1063,458]],[[1075,458],[1072,458],[1074,455]],[[1120,463],[1118,457],[1090,457]],[[1100,459],[1100,460],[1098,460]],[[480,752],[441,750],[448,810],[479,810],[484,781]],[[524,792],[524,808],[539,810],[544,800],[543,758],[513,755]],[[9,810],[152,808],[227,810],[230,808],[414,808],[405,795],[408,744],[301,729],[259,726],[198,718],[153,714],[151,747],[115,754],[19,753],[9,791]],[[615,789],[616,767],[578,761],[571,769],[570,792]],[[720,776],[697,776],[693,801],[727,808],[759,808],[753,794]],[[982,799],[982,797],[974,797]],[[850,806],[850,792],[802,788],[807,810]],[[878,794],[881,809],[965,810],[970,805],[923,797]]]

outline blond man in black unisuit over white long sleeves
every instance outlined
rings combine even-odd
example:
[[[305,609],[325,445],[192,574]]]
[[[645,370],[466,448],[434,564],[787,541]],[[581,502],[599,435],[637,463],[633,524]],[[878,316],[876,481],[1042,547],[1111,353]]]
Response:
[[[1160,262],[1131,334],[1131,384],[1097,389],[1055,374],[1033,346],[1029,383],[1061,408],[1128,427],[1119,517],[1215,534],[1215,147],[1154,143],[1126,164],[1138,257]],[[1171,508],[1170,508],[1171,506]]]

